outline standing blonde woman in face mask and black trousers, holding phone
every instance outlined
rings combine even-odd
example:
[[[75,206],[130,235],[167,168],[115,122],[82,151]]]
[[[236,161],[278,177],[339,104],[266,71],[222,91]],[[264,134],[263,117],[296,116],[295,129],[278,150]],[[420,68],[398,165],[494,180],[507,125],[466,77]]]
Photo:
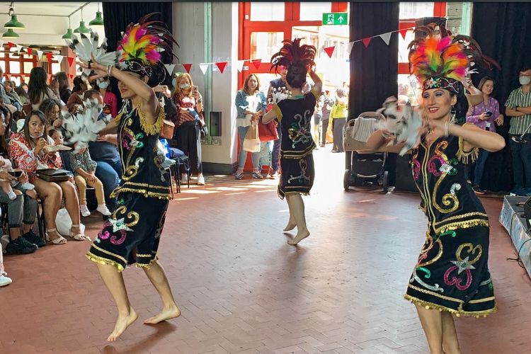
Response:
[[[175,93],[173,93],[173,103],[178,108],[175,125],[177,149],[184,152],[190,159],[190,173],[198,173],[198,185],[204,185],[200,129],[205,125],[205,120],[202,117],[202,97],[194,87],[196,86],[193,86],[190,74],[183,73],[178,76]],[[187,178],[188,176],[183,173],[181,181],[186,181]]]

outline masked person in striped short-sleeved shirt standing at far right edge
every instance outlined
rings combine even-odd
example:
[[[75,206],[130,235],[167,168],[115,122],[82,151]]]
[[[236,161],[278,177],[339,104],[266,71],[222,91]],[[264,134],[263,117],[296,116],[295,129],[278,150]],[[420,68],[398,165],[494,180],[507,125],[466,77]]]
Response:
[[[529,65],[522,67],[518,81],[520,87],[511,91],[506,101],[506,115],[512,117],[509,121],[509,135],[515,187],[511,193],[531,195],[531,67]]]

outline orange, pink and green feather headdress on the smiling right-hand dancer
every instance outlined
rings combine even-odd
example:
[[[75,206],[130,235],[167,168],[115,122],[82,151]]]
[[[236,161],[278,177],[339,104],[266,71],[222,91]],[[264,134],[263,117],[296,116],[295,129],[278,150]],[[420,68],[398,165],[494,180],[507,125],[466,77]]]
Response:
[[[467,75],[475,73],[471,67],[476,63],[498,63],[481,52],[478,43],[465,35],[452,36],[450,31],[435,23],[416,28],[423,31],[426,38],[413,40],[409,51],[409,72],[428,89],[446,89],[459,93],[459,83]]]

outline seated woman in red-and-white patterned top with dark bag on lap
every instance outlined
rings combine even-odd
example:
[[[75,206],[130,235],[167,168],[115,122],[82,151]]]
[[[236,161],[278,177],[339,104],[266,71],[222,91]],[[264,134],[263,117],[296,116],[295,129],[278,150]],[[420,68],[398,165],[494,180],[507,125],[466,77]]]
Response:
[[[46,118],[40,110],[32,110],[25,119],[23,130],[13,136],[9,142],[9,154],[18,169],[28,173],[30,183],[35,185],[39,198],[44,200],[46,219],[46,239],[52,244],[66,244],[67,240],[57,232],[55,217],[64,198],[72,229],[69,236],[76,241],[83,241],[84,234],[79,228],[79,200],[73,181],[47,182],[37,175],[39,169],[60,169],[61,157],[57,152],[50,152],[48,146],[54,145],[46,131]]]

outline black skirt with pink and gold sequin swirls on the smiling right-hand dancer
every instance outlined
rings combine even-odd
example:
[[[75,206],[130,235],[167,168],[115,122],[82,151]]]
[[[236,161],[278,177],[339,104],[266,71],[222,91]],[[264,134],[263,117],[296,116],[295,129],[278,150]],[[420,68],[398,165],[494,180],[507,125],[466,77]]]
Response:
[[[489,227],[428,232],[404,297],[457,316],[496,312],[488,261]]]

